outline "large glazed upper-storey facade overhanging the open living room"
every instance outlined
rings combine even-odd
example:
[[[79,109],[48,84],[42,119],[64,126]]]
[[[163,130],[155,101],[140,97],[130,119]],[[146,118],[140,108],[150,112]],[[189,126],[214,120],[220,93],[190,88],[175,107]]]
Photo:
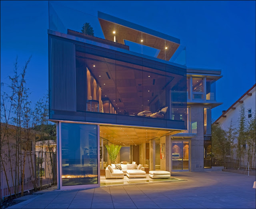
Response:
[[[51,119],[187,128],[186,69],[51,35],[49,47]]]

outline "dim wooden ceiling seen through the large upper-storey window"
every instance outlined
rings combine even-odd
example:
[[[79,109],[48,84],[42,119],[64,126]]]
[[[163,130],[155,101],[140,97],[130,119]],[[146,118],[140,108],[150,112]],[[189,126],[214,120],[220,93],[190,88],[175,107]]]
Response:
[[[165,92],[166,83],[171,88],[178,79],[172,73],[162,72],[131,63],[123,63],[96,55],[76,52],[80,65],[86,66],[102,88],[102,99],[106,98],[116,106],[118,114],[137,115],[149,110],[149,104],[154,104]],[[84,58],[86,56],[86,58]],[[79,65],[77,63],[77,65]],[[95,66],[95,67],[93,67]],[[142,71],[143,69],[143,71]]]

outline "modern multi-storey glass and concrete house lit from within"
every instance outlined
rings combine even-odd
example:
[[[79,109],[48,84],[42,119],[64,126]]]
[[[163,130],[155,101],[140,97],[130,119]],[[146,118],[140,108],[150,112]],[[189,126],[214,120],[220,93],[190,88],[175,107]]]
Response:
[[[211,168],[221,71],[187,69],[186,48],[170,35],[102,12],[79,15],[95,35],[50,5],[49,120],[57,124],[59,188],[99,187],[111,164],[106,144],[122,145],[117,163],[149,171]]]

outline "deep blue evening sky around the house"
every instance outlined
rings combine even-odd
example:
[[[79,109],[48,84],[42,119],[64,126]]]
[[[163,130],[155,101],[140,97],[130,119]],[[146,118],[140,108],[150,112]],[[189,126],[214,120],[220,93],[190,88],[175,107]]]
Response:
[[[221,69],[217,119],[255,84],[255,1],[59,1],[97,16],[101,11],[180,39],[187,67]],[[67,14],[68,15],[68,14]],[[1,1],[1,82],[32,55],[32,103],[48,89],[48,1]],[[1,87],[2,89],[2,87]]]

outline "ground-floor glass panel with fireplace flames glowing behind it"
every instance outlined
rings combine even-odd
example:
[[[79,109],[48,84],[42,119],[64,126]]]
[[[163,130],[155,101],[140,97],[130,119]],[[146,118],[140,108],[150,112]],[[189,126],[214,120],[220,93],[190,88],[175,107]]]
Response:
[[[97,125],[61,123],[62,186],[98,184]]]

